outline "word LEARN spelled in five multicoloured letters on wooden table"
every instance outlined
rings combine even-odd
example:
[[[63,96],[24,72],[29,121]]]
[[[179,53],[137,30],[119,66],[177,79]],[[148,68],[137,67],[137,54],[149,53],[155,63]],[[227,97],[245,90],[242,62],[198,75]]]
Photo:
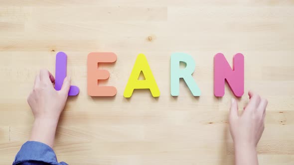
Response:
[[[101,86],[99,80],[107,80],[110,73],[107,70],[99,70],[99,63],[114,63],[117,56],[114,53],[92,52],[87,59],[87,88],[90,96],[114,96],[117,89],[114,86]],[[181,69],[180,62],[186,64]],[[170,56],[170,94],[179,95],[179,80],[182,78],[194,96],[200,96],[201,91],[193,80],[192,73],[195,70],[195,62],[192,56],[186,53],[173,53]],[[60,90],[67,72],[67,55],[64,52],[56,54],[55,89]],[[140,73],[145,80],[139,80]],[[233,69],[222,53],[214,56],[214,95],[222,97],[225,94],[225,82],[228,83],[235,96],[244,94],[244,56],[241,53],[233,57]],[[149,89],[153,97],[159,97],[160,91],[153,77],[144,54],[139,54],[131,72],[129,81],[124,91],[124,97],[131,97],[135,89]],[[77,95],[78,86],[70,86],[68,95]]]

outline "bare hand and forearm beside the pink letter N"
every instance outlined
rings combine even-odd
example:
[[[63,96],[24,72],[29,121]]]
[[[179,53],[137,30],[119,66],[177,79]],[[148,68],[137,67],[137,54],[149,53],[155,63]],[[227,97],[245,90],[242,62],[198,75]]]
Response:
[[[232,98],[229,115],[230,133],[234,141],[236,165],[258,165],[256,146],[265,129],[264,119],[268,101],[252,91],[242,115]]]

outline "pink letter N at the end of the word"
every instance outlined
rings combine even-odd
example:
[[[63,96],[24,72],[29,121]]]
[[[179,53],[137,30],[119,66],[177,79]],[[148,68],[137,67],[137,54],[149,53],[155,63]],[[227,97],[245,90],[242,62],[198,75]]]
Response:
[[[233,58],[233,70],[222,53],[214,56],[214,95],[225,94],[225,80],[237,97],[244,94],[244,56],[238,53]]]

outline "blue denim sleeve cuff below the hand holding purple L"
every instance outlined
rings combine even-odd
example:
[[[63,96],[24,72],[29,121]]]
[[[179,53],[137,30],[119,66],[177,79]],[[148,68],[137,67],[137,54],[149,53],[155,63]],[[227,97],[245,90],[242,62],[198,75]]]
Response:
[[[56,155],[48,145],[35,142],[25,142],[16,154],[12,165],[67,165],[57,162]]]

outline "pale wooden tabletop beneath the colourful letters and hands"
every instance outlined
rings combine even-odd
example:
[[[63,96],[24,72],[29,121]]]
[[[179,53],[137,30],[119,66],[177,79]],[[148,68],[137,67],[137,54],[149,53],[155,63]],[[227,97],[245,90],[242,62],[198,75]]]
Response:
[[[294,164],[294,0],[0,0],[0,165],[11,165],[28,140],[33,115],[26,102],[39,69],[55,73],[68,55],[68,75],[80,87],[70,97],[54,150],[70,165],[233,165],[228,130],[232,92],[213,95],[213,57],[230,64],[245,56],[245,94],[269,100],[258,145],[260,165]],[[87,55],[114,52],[103,65],[115,97],[87,95]],[[185,83],[170,95],[170,55],[190,54],[202,95]],[[154,99],[123,92],[144,53],[160,89]]]

